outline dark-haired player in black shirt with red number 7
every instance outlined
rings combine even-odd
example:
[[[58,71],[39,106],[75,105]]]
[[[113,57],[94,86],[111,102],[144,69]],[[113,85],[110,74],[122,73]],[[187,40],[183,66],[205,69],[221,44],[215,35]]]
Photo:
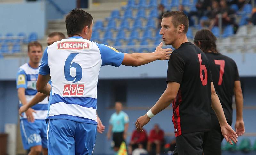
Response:
[[[232,98],[235,93],[235,129],[237,135],[241,136],[244,134],[245,128],[243,121],[243,95],[238,69],[234,60],[217,51],[216,40],[217,38],[210,30],[202,29],[196,32],[194,43],[201,48],[208,58],[214,88],[219,96],[229,125],[232,124]],[[205,144],[204,155],[220,155],[223,136],[221,134],[220,124],[212,108],[210,114],[212,127]]]

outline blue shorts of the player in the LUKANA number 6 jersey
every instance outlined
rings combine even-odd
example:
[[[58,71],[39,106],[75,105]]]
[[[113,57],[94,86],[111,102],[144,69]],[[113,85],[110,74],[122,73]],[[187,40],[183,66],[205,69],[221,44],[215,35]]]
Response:
[[[48,155],[92,155],[97,125],[67,119],[47,121]]]

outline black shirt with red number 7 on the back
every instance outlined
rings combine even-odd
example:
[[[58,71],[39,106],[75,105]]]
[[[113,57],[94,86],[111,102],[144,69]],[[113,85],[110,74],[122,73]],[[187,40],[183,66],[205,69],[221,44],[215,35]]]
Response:
[[[208,58],[212,80],[229,125],[232,124],[232,98],[235,81],[240,80],[236,63],[220,53],[205,53]],[[211,108],[212,119],[217,119]]]

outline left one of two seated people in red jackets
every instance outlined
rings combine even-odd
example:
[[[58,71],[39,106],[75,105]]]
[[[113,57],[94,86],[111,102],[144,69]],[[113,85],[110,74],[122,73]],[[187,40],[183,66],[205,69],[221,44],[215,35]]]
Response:
[[[145,129],[143,129],[144,132],[140,132],[137,129],[135,129],[132,133],[131,141],[128,147],[128,154],[132,154],[132,150],[138,148],[139,144],[142,144],[143,147],[147,145],[147,132]]]

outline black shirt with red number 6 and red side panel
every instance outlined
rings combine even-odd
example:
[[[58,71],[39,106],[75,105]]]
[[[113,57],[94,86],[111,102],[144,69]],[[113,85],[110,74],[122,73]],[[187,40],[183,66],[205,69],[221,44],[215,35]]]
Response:
[[[211,81],[208,59],[190,42],[174,50],[168,62],[167,82],[180,83],[172,102],[175,136],[211,128]]]

